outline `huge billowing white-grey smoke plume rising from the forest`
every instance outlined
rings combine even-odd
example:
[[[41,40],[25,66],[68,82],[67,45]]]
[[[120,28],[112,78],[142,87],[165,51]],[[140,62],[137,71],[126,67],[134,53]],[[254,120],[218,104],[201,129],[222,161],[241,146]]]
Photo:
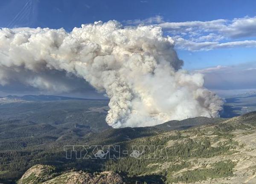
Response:
[[[0,84],[20,80],[39,89],[68,90],[51,71],[84,78],[110,98],[113,127],[151,126],[173,119],[216,117],[223,101],[201,74],[181,69],[171,37],[160,27],[123,28],[116,21],[64,29],[0,30]]]

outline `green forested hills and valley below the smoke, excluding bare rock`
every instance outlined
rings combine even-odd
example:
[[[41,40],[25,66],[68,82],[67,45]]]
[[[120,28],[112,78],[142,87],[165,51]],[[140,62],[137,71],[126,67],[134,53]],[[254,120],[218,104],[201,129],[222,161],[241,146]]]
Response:
[[[221,118],[213,118],[211,122],[210,118],[199,117],[153,127],[113,129],[105,123],[107,112],[102,107],[107,102],[72,100],[17,103],[15,107],[0,105],[0,182],[14,184],[36,164],[54,165],[57,173],[70,169],[90,173],[113,170],[128,181],[147,183],[226,177],[232,175],[235,163],[220,162],[202,168],[197,159],[233,154],[242,147],[235,141],[233,132],[255,132],[256,127],[256,114],[253,113],[234,122],[224,122]],[[175,126],[170,127],[172,123]],[[204,126],[190,128],[198,125]],[[147,159],[147,156],[152,158],[155,150],[145,150],[143,156],[146,158],[142,159],[121,154],[122,158],[117,160],[67,160],[63,147],[73,144],[120,145],[121,150],[129,150],[129,154],[133,145],[164,145],[168,158]],[[182,172],[181,178],[172,177],[180,170],[196,166],[198,169]]]

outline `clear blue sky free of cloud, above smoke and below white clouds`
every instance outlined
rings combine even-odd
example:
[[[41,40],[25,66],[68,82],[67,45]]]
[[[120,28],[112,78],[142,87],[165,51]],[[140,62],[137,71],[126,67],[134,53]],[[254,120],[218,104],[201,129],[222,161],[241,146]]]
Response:
[[[71,31],[73,27],[98,20],[114,19],[126,25],[126,20],[146,20],[156,16],[161,16],[164,22],[233,20],[256,16],[255,7],[254,0],[1,0],[0,26],[64,27]],[[255,48],[243,47],[177,51],[185,62],[185,69],[253,62],[256,56]]]

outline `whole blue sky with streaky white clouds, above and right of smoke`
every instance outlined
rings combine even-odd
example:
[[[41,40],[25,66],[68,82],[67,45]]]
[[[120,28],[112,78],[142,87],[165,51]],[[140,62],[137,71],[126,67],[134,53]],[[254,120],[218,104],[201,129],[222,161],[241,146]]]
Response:
[[[239,68],[256,68],[255,7],[255,0],[1,0],[0,27],[71,31],[99,20],[118,20],[124,26],[154,24],[174,37],[184,69],[208,75],[212,70],[202,69],[225,66],[224,73],[233,71],[229,81]],[[252,72],[244,78],[251,83],[238,83],[237,88],[255,89],[255,78]]]

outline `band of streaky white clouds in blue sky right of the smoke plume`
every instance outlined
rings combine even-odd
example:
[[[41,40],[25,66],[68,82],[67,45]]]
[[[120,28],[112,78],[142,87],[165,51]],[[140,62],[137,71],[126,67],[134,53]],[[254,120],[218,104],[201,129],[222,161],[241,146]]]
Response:
[[[156,16],[145,20],[128,20],[127,24],[154,24],[174,37],[176,48],[206,51],[233,47],[256,47],[256,17],[233,20],[164,22]],[[250,38],[249,40],[243,40]],[[237,40],[239,39],[239,40]]]

